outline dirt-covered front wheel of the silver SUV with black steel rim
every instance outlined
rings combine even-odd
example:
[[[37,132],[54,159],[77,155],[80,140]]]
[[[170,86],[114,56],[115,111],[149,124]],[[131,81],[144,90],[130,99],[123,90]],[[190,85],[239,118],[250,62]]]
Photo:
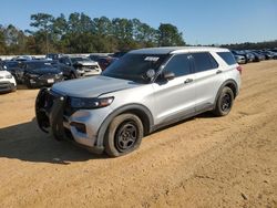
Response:
[[[143,124],[134,114],[121,114],[110,124],[105,138],[105,153],[119,157],[135,150],[142,142]]]

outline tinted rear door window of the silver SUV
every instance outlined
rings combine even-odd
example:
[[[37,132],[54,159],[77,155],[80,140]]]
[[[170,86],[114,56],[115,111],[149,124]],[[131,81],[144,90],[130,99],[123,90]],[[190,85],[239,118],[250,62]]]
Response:
[[[204,72],[218,67],[218,63],[208,52],[193,53],[195,71]]]

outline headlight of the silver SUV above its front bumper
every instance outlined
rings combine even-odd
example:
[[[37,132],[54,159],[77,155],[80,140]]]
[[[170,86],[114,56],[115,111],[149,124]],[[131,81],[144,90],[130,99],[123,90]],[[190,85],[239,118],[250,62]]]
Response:
[[[114,97],[86,98],[71,97],[70,105],[73,108],[100,108],[112,104]]]

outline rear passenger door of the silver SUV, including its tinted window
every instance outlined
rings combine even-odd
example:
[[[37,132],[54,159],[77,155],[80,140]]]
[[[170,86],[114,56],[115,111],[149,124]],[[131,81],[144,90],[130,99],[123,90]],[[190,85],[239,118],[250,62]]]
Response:
[[[224,73],[209,52],[192,53],[195,70],[196,111],[213,106],[223,83]]]

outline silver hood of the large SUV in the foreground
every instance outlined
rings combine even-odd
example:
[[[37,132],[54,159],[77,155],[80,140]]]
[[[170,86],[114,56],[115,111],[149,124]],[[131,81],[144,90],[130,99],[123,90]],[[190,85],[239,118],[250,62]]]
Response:
[[[101,94],[132,89],[138,85],[141,84],[132,81],[99,75],[57,83],[52,86],[52,90],[62,95],[74,97],[98,97]]]

